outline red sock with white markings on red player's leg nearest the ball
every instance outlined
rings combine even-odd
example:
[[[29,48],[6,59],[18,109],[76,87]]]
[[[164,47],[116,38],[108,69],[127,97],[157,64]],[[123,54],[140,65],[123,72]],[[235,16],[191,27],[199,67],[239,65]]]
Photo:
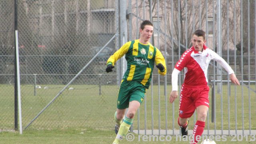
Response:
[[[200,120],[196,121],[194,130],[193,130],[193,140],[191,144],[196,144],[198,140],[200,140],[200,136],[202,136],[204,132],[204,126],[205,126],[205,122]]]

